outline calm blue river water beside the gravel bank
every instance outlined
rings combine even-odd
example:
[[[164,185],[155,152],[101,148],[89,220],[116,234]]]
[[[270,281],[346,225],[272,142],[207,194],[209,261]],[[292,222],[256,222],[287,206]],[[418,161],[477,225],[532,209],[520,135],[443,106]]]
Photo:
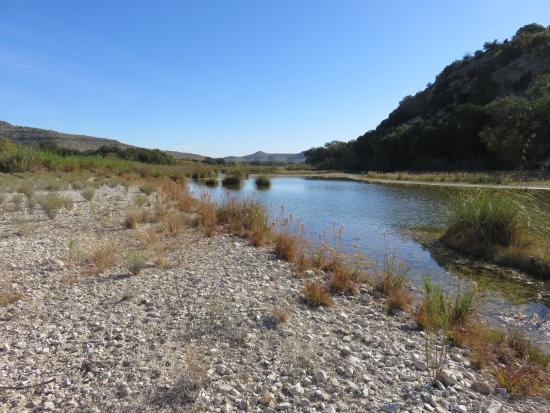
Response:
[[[481,311],[485,316],[508,327],[519,326],[550,350],[550,283],[536,282],[511,271],[450,261],[431,253],[404,230],[443,227],[449,189],[298,177],[274,177],[271,188],[261,191],[252,179],[239,190],[208,189],[200,184],[193,184],[192,188],[209,191],[216,199],[222,199],[227,192],[254,198],[268,207],[273,220],[284,208],[285,215],[292,214],[304,224],[306,236],[312,241],[318,241],[323,233],[330,238],[333,224],[341,226],[339,243],[343,249],[360,252],[375,263],[381,263],[387,253],[399,257],[410,268],[411,281],[417,287],[423,274],[445,284],[456,277],[475,280],[484,292]]]

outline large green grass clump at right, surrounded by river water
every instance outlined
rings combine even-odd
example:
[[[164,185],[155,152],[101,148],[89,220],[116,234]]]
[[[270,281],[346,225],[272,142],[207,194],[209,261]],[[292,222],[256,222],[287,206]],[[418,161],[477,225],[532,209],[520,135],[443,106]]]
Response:
[[[469,255],[550,277],[548,211],[535,195],[478,189],[449,203],[443,244]]]

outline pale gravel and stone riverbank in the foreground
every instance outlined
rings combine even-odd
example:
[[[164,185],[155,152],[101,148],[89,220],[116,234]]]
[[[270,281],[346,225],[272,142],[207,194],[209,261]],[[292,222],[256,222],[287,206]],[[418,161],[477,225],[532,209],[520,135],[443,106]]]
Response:
[[[288,263],[231,236],[188,229],[165,268],[86,275],[74,245],[135,241],[133,193],[104,186],[91,208],[66,191],[75,205],[53,220],[0,214],[1,281],[22,294],[0,307],[0,411],[550,411],[458,348],[430,385],[424,333],[368,287],[309,308]]]

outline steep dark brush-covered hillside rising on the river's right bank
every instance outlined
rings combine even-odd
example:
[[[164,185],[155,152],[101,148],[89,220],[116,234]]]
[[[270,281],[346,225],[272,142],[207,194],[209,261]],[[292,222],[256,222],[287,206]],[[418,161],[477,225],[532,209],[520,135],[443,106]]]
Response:
[[[550,27],[529,24],[449,64],[375,130],[306,151],[347,170],[549,168]]]

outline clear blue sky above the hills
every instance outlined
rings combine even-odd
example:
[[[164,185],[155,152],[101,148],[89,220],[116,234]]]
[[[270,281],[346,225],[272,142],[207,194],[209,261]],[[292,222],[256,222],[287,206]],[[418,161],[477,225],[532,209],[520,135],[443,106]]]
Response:
[[[210,156],[375,128],[548,0],[0,0],[0,119]]]

